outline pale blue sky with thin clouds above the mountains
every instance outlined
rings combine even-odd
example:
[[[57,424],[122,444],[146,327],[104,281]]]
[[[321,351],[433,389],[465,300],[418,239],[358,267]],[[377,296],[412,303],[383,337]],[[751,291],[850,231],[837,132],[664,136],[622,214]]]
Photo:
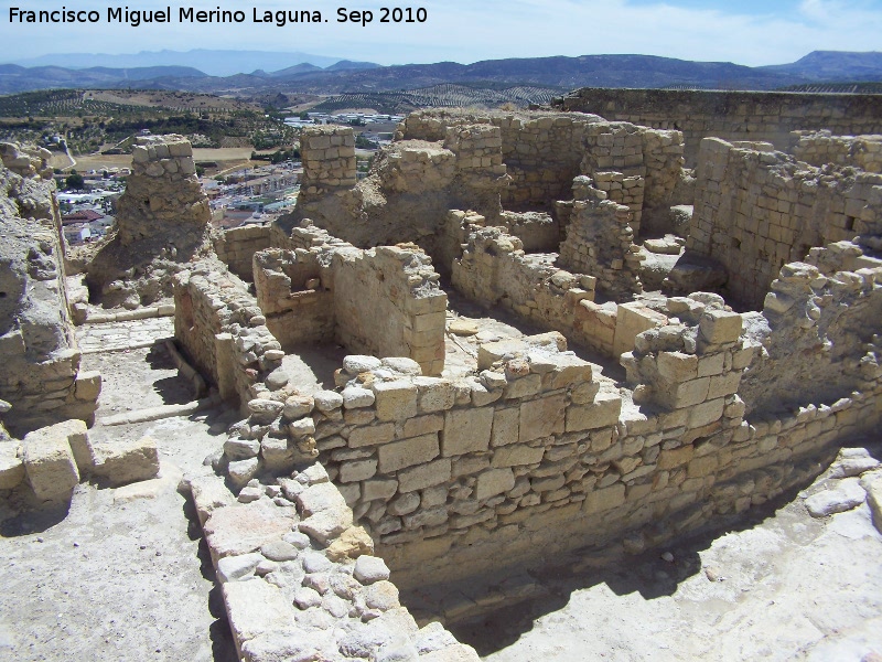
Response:
[[[462,63],[501,57],[642,53],[746,65],[793,62],[815,50],[882,51],[882,0],[412,0],[422,24],[380,24],[373,0],[0,0],[0,43],[7,58],[47,53],[136,53],[162,49],[301,51],[380,64]],[[108,6],[157,9],[171,4],[175,22],[109,25]],[[182,25],[179,7],[243,10],[235,25]],[[98,9],[96,24],[11,24],[9,10]],[[340,7],[373,9],[374,23],[336,22]],[[252,8],[320,10],[330,21],[286,28],[255,24]],[[14,55],[13,55],[14,54]],[[185,64],[185,63],[182,63]],[[112,66],[112,62],[108,62]]]

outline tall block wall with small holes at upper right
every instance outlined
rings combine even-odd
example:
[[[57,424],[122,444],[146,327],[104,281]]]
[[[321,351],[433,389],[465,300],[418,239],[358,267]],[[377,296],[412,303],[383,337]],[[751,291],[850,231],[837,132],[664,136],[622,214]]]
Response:
[[[722,263],[729,292],[745,307],[760,308],[786,263],[878,222],[878,174],[804,166],[767,145],[701,146],[687,249]]]

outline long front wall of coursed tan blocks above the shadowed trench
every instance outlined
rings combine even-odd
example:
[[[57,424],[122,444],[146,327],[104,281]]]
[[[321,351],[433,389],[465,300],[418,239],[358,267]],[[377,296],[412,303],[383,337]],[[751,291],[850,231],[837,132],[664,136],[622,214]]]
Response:
[[[878,381],[745,420],[738,391],[757,346],[708,301],[671,300],[686,323],[637,337],[624,395],[553,333],[482,345],[480,373],[459,381],[348,357],[342,402],[313,416],[316,446],[396,583],[613,542],[642,551],[799,484],[836,439],[879,421]]]

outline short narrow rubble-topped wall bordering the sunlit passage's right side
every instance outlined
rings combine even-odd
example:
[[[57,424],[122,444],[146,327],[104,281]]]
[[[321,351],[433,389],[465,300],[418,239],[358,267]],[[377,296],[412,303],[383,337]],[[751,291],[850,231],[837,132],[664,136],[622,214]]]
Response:
[[[174,337],[225,401],[245,406],[284,352],[244,282],[217,261],[175,276]]]

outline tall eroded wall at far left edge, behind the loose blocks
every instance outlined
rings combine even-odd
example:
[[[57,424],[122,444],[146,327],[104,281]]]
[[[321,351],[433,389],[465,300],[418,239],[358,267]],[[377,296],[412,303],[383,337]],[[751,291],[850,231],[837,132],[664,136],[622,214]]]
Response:
[[[17,158],[29,175],[43,166]],[[54,191],[51,181],[0,168],[0,399],[12,407],[4,425],[19,436],[68,418],[92,424],[101,388],[98,373],[79,370]]]

